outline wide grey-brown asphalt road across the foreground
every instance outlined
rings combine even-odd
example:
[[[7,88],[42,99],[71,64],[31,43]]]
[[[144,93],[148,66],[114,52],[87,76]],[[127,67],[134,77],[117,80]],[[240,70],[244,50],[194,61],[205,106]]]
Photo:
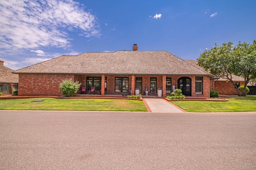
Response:
[[[0,111],[0,169],[256,169],[254,113]]]

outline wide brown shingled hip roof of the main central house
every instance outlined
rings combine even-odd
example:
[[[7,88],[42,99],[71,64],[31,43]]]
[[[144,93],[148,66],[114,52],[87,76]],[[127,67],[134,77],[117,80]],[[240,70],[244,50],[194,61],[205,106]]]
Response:
[[[14,71],[17,74],[206,75],[167,51],[116,51],[63,55]]]

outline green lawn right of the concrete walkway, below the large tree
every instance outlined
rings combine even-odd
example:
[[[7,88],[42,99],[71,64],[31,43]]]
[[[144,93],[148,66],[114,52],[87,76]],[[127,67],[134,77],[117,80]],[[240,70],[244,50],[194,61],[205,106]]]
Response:
[[[172,101],[188,112],[248,112],[256,111],[256,96],[228,98],[229,101]]]

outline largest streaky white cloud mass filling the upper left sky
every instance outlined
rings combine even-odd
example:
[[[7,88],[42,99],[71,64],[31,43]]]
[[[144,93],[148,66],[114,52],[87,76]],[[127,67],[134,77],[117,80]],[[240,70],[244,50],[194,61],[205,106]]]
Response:
[[[0,49],[69,47],[68,31],[100,36],[97,19],[73,0],[0,0]]]

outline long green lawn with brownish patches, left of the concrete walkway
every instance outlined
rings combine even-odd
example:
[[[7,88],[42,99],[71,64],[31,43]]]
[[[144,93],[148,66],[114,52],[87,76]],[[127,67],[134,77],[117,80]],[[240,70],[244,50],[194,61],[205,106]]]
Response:
[[[43,102],[31,102],[43,100]],[[32,98],[0,100],[0,110],[147,111],[143,101],[123,99]]]

